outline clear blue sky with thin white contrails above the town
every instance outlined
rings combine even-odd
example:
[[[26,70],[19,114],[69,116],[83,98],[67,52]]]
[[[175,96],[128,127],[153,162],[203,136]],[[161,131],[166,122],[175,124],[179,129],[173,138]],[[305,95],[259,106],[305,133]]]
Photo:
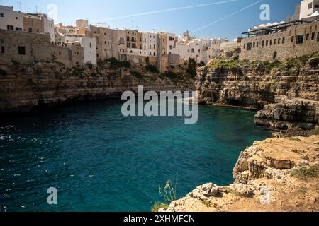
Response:
[[[161,11],[168,8],[180,8],[199,4],[211,4],[227,0],[0,0],[1,5],[14,6],[15,10],[47,13],[49,4],[57,6],[57,22],[66,25],[74,25],[78,18],[88,19],[92,24],[96,20],[105,23],[111,28],[137,28],[142,31],[163,30],[179,35],[185,30],[197,30],[204,25],[213,23],[205,29],[194,32],[197,37],[228,37],[231,40],[240,36],[248,28],[261,23],[272,23],[286,20],[293,14],[295,5],[301,0],[265,0],[254,6],[240,11],[246,6],[256,3],[258,0],[237,0],[224,4],[206,5],[195,8],[183,8],[176,11],[164,11],[154,14],[133,16],[129,18],[116,18],[150,11]],[[18,4],[20,2],[20,4]],[[262,21],[259,18],[261,4],[269,4],[270,21]],[[225,18],[236,11],[233,16]],[[111,20],[101,20],[113,18]],[[116,18],[116,19],[114,19]],[[220,20],[225,18],[223,20]]]

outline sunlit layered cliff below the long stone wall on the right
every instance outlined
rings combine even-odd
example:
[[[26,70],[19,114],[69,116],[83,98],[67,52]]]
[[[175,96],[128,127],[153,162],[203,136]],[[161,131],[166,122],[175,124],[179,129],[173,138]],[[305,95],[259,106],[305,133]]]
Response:
[[[318,61],[304,65],[226,61],[198,69],[195,86],[206,105],[264,108],[255,121],[272,129],[313,129],[319,114]]]

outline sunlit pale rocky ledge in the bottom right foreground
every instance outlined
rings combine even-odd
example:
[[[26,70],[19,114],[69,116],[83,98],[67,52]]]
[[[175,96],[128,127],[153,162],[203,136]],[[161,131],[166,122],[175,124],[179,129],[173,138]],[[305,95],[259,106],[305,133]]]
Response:
[[[269,138],[240,154],[234,184],[198,186],[162,212],[319,211],[319,136]]]

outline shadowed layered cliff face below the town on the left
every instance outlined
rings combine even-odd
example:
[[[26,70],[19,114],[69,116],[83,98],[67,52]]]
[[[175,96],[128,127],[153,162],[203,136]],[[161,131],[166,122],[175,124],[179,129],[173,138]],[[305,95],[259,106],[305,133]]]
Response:
[[[194,90],[181,74],[150,73],[145,69],[76,67],[57,63],[0,65],[0,113],[29,111],[74,100],[121,97],[127,90]]]

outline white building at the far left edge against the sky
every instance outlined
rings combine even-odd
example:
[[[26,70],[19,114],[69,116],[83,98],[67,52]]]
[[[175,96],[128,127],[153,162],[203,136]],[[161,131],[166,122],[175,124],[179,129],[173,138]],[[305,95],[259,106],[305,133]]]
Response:
[[[0,6],[0,29],[23,31],[23,13],[13,11],[13,7]]]

